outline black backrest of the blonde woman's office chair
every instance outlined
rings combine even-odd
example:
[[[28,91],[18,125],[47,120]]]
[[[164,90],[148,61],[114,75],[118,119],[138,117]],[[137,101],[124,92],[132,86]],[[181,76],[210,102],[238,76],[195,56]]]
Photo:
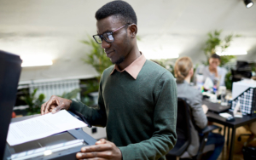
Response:
[[[177,98],[177,139],[191,141],[189,105],[183,98]]]

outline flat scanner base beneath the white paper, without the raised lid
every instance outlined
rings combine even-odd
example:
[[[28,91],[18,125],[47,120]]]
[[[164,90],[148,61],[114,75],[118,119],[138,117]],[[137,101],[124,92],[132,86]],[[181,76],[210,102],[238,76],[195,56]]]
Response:
[[[68,111],[73,117],[84,121],[79,112]],[[19,122],[28,118],[40,115],[32,115],[26,117],[16,117],[12,119],[12,123]],[[84,119],[84,120],[83,120]],[[84,123],[90,124],[85,120]],[[16,146],[6,144],[5,157],[7,160],[22,159],[76,159],[76,153],[81,151],[81,147],[95,145],[96,140],[83,129],[71,129],[59,134],[53,134],[39,140],[32,140]]]

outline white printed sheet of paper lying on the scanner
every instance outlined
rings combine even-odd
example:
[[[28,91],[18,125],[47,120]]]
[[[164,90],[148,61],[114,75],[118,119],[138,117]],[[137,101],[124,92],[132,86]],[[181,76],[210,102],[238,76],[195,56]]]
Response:
[[[86,127],[87,124],[73,117],[66,110],[39,117],[33,117],[9,125],[7,142],[9,146],[19,145],[32,140],[38,140],[52,134],[58,134],[70,129]]]

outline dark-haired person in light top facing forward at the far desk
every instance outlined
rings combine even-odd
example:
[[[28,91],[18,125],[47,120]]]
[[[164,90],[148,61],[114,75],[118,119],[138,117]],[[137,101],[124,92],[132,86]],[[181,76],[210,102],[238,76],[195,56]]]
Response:
[[[225,86],[225,76],[227,70],[219,66],[220,56],[218,54],[212,54],[209,59],[209,66],[199,66],[195,71],[194,83],[196,84],[196,75],[201,74],[204,77],[203,82],[206,81],[207,77],[212,80],[214,85]]]

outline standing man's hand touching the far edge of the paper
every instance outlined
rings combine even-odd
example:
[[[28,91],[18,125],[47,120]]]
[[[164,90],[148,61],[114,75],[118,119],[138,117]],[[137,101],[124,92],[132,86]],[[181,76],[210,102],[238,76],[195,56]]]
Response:
[[[49,112],[55,113],[61,109],[68,110],[72,100],[63,99],[61,97],[52,95],[50,99],[41,106],[41,115]]]

